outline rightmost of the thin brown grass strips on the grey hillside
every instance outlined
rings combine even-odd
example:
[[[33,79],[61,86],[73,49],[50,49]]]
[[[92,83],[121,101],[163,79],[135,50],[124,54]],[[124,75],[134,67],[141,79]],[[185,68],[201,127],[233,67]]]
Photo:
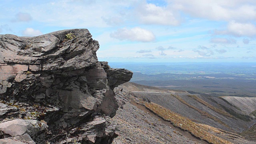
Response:
[[[189,97],[192,97],[194,98],[195,100],[197,100],[198,102],[200,102],[201,104],[205,105],[205,106],[208,106],[208,108],[214,110],[215,112],[219,113],[219,114],[222,114],[223,116],[228,116],[230,118],[234,118],[234,116],[232,116],[231,114],[229,114],[228,112],[224,111],[224,110],[221,110],[219,108],[216,108],[214,106],[212,106],[211,104],[209,104],[208,102],[202,100],[201,98],[198,98],[197,96],[195,95],[187,95]]]

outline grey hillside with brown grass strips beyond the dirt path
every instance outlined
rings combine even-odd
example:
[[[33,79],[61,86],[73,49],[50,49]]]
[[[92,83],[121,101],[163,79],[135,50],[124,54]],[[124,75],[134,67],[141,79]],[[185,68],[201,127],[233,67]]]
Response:
[[[165,122],[190,132],[204,142],[254,143],[239,135],[254,124],[253,118],[222,98],[192,95],[178,90],[169,91],[131,82],[122,84],[115,91],[131,102],[144,106]],[[151,102],[148,103],[149,101]],[[125,111],[125,108],[122,111]],[[120,138],[122,136],[118,139]]]

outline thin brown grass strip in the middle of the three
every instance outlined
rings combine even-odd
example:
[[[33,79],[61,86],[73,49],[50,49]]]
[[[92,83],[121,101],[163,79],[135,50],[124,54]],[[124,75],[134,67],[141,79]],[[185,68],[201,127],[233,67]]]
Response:
[[[212,120],[218,122],[219,124],[222,124],[223,126],[226,126],[227,128],[230,128],[228,125],[226,125],[224,122],[222,122],[220,119],[212,116],[211,114],[209,114],[208,112],[205,112],[203,110],[200,110],[190,104],[188,104],[185,100],[183,100],[180,96],[178,95],[173,95],[171,94],[172,96],[174,96],[175,98],[177,98],[180,102],[182,102],[183,104],[186,104],[187,106],[189,106],[190,108],[193,108],[194,110],[200,112],[202,114],[202,116],[206,116],[207,118],[211,118]]]

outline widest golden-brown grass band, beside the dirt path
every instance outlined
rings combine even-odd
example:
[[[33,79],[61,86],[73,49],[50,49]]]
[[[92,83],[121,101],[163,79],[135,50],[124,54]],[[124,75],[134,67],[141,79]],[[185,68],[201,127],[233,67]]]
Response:
[[[214,130],[216,133],[221,133],[220,130],[211,129],[212,127],[203,125],[203,124],[197,124],[195,122],[192,122],[190,119],[181,116],[180,114],[177,114],[175,112],[172,112],[171,110],[168,110],[162,106],[159,106],[158,104],[154,104],[153,102],[147,103],[147,102],[141,102],[157,114],[158,116],[162,117],[164,120],[170,121],[174,126],[177,126],[181,128],[182,130],[187,130],[194,136],[206,140],[207,142],[211,144],[232,144],[232,142],[228,140],[224,140],[223,138],[220,138],[218,136],[215,136],[214,134],[211,134],[209,131]]]

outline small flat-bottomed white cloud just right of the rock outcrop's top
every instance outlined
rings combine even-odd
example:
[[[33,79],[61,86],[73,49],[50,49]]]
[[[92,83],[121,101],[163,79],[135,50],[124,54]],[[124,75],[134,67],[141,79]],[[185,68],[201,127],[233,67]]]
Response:
[[[151,31],[139,27],[131,29],[121,28],[118,29],[116,32],[111,33],[110,36],[119,40],[129,40],[137,42],[152,42],[155,40],[155,36]]]

